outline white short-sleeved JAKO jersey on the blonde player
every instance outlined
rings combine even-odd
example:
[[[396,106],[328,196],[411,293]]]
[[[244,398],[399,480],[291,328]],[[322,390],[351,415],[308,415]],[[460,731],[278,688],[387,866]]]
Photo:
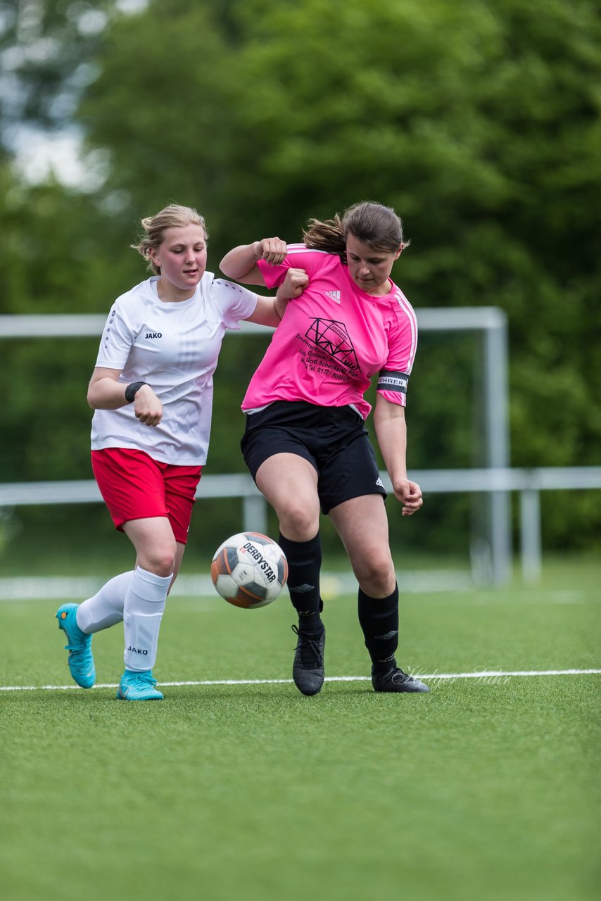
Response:
[[[166,303],[159,298],[158,280],[148,278],[117,297],[96,366],[121,369],[123,385],[148,382],[163,405],[163,418],[157,426],[144,425],[133,404],[96,410],[92,450],[132,448],[162,463],[203,466],[223,334],[254,313],[257,295],[205,272],[193,297]]]

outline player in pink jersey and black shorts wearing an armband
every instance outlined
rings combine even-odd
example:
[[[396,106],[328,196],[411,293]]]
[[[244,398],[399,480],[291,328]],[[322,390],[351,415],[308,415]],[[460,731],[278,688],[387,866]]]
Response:
[[[395,211],[365,202],[342,217],[310,220],[302,244],[266,238],[230,250],[221,262],[228,278],[268,287],[286,282],[295,296],[250,379],[241,448],[278,515],[298,614],[293,678],[304,695],[323,686],[320,514],[330,516],[359,582],[374,689],[428,691],[396,663],[398,587],[386,490],[365,427],[365,392],[375,376],[379,449],[403,514],[414,514],[423,499],[407,477],[405,398],[417,323],[390,279],[406,246]]]

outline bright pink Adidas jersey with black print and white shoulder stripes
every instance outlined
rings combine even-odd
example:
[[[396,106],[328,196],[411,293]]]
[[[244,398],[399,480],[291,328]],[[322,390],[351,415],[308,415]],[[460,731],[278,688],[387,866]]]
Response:
[[[288,268],[303,268],[309,284],[291,300],[242,401],[256,410],[277,400],[319,406],[353,405],[364,419],[372,376],[378,392],[405,406],[417,347],[417,320],[403,292],[362,291],[337,254],[288,246],[280,266],[259,260],[268,287],[281,285]]]

